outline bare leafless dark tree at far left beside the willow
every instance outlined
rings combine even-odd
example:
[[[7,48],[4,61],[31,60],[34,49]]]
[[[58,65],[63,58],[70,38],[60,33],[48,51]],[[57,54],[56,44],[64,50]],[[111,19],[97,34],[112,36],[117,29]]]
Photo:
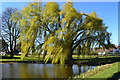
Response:
[[[20,33],[19,22],[11,19],[12,14],[16,11],[16,8],[6,8],[2,14],[2,36],[9,45],[11,57],[14,56]]]

